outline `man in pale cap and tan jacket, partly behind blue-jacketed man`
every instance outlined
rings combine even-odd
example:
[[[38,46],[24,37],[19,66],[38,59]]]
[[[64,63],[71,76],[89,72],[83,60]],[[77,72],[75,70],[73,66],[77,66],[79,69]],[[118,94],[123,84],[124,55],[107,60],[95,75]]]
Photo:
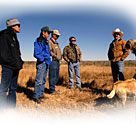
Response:
[[[52,62],[49,66],[49,93],[57,94],[55,90],[55,84],[59,80],[59,61],[62,59],[61,49],[56,41],[61,34],[58,30],[53,30],[52,37],[50,38],[49,45],[51,49]]]

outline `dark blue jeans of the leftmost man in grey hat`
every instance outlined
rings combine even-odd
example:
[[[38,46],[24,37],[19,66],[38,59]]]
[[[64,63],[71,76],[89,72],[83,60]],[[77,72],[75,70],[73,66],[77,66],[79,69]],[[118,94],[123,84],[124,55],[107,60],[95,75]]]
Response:
[[[0,105],[16,107],[16,89],[19,70],[12,70],[2,66],[0,85]],[[8,97],[7,97],[8,92]]]

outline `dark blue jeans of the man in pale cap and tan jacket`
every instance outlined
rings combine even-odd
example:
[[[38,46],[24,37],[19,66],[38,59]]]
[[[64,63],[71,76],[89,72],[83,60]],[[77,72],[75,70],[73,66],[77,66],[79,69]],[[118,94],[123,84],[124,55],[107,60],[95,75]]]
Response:
[[[52,61],[49,66],[49,91],[50,93],[55,92],[55,84],[59,80],[59,62]]]

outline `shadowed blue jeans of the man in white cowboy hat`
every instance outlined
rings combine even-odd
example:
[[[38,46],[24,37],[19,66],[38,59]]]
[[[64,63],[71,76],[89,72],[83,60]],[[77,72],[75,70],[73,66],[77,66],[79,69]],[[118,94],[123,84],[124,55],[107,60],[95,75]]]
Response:
[[[124,62],[118,61],[118,62],[111,62],[111,69],[112,69],[112,75],[113,75],[113,81],[116,82],[118,80],[124,81]]]

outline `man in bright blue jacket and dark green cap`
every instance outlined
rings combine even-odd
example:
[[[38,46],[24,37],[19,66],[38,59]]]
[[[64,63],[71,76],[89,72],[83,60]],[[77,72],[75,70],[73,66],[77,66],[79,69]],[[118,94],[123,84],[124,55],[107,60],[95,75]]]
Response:
[[[42,102],[42,99],[46,99],[44,96],[44,85],[46,82],[46,76],[51,63],[51,52],[49,42],[50,28],[45,26],[41,28],[40,36],[34,42],[34,57],[37,59],[36,63],[36,79],[34,85],[34,101],[38,104]]]

